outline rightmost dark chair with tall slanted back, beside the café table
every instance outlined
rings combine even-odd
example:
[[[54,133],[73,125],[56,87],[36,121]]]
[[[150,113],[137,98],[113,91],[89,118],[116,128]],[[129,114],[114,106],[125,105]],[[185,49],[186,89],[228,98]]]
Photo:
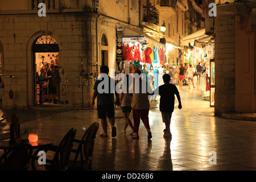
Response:
[[[81,140],[74,139],[74,142],[79,143],[79,145],[76,150],[74,149],[72,150],[72,152],[75,152],[76,156],[69,170],[92,171],[93,148],[94,148],[94,141],[96,139],[98,127],[99,127],[98,122],[94,122],[85,131],[85,134],[82,136]],[[80,155],[80,160],[77,160],[79,155]],[[80,165],[77,165],[79,163]]]

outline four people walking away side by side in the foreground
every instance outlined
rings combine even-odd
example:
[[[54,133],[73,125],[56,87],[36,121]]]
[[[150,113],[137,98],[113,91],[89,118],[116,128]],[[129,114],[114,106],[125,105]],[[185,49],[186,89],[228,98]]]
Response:
[[[102,65],[100,68],[100,73],[105,73],[108,75],[109,68],[105,65]],[[140,69],[135,69],[134,74],[141,75],[142,71]],[[132,81],[131,81],[132,80]],[[156,88],[155,90],[150,90],[150,86],[146,86],[146,92],[143,92],[142,88],[143,78],[133,77],[131,75],[126,75],[126,84],[123,84],[123,90],[119,94],[115,92],[115,88],[112,85],[112,82],[115,82],[113,78],[108,76],[108,91],[109,92],[100,92],[98,86],[102,86],[101,82],[104,81],[104,78],[98,78],[94,84],[94,92],[92,96],[92,107],[94,107],[94,101],[97,97],[97,111],[98,118],[101,119],[101,125],[103,133],[100,137],[108,137],[106,121],[107,117],[112,129],[112,137],[117,135],[117,129],[115,128],[115,112],[114,112],[114,94],[117,99],[116,104],[121,107],[123,118],[125,119],[125,125],[123,127],[123,132],[126,132],[127,127],[131,128],[131,135],[133,139],[139,139],[139,125],[142,120],[144,126],[147,130],[147,139],[152,138],[152,133],[149,124],[148,113],[150,110],[150,102],[148,96],[159,94],[160,95],[160,111],[162,114],[163,122],[166,125],[164,129],[164,137],[172,137],[170,131],[171,116],[174,111],[174,102],[175,95],[179,101],[178,108],[181,109],[181,99],[179,92],[174,84],[170,84],[171,77],[169,74],[163,75],[164,84]],[[105,81],[104,81],[105,82]],[[105,82],[106,83],[106,82]],[[135,84],[137,83],[137,84]],[[116,83],[115,83],[116,84]],[[133,84],[133,86],[131,86]],[[137,88],[138,87],[138,88]],[[130,90],[133,89],[133,90]],[[136,90],[136,92],[135,92]],[[133,111],[133,123],[129,118],[131,111]]]

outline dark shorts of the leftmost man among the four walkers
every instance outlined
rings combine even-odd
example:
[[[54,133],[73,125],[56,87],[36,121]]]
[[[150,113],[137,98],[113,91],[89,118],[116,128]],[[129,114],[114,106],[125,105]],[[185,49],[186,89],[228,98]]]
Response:
[[[97,105],[98,110],[98,118],[99,119],[106,119],[115,117],[115,109],[114,104],[111,105]]]

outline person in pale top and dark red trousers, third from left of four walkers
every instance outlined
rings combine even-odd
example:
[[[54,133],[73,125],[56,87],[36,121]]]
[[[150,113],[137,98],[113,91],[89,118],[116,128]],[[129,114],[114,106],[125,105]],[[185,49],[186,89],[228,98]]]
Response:
[[[147,139],[152,138],[150,125],[148,122],[148,112],[150,108],[150,103],[148,101],[148,94],[147,94],[147,86],[146,89],[142,87],[142,79],[138,75],[141,75],[141,70],[137,69],[134,72],[133,78],[133,102],[131,102],[131,107],[133,108],[133,121],[134,121],[134,139],[139,138],[139,123],[142,122],[147,129]],[[145,80],[143,80],[145,81]],[[143,85],[146,85],[143,84]],[[148,86],[148,88],[150,88]]]

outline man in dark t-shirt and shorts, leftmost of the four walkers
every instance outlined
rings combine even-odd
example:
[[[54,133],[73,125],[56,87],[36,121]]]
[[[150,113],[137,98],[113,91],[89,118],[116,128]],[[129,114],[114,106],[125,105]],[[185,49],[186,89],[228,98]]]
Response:
[[[112,137],[117,135],[117,131],[115,128],[115,110],[114,110],[114,93],[117,99],[116,103],[119,106],[119,94],[115,92],[115,88],[111,85],[115,85],[115,80],[108,76],[109,67],[106,65],[102,65],[100,67],[100,75],[94,83],[93,86],[93,96],[92,96],[92,104],[91,107],[94,107],[94,101],[97,97],[97,111],[98,118],[101,119],[101,125],[103,129],[103,133],[100,137],[108,137],[108,123],[106,121],[106,117],[109,119],[109,123],[112,129]],[[103,75],[102,75],[103,74]],[[105,78],[107,80],[105,80]],[[104,85],[100,88],[99,84],[104,81],[108,84],[108,90],[104,90]],[[104,92],[102,92],[102,90]]]

